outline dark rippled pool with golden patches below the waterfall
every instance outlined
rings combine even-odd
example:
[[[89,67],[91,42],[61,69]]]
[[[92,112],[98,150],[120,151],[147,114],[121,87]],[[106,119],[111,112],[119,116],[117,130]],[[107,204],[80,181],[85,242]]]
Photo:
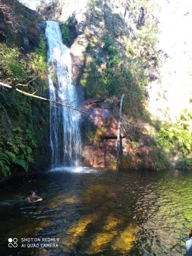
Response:
[[[192,173],[177,170],[117,174],[87,168],[15,178],[0,188],[1,255],[184,254],[191,185]],[[25,203],[32,189],[44,200]],[[16,248],[8,247],[9,238],[17,238]]]

